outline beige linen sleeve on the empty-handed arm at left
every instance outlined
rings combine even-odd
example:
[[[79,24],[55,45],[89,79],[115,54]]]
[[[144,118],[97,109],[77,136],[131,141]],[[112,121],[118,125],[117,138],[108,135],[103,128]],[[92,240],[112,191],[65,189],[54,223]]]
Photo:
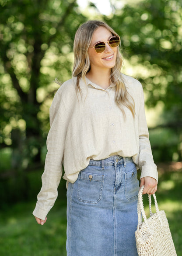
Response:
[[[37,196],[38,200],[33,212],[33,215],[40,219],[45,219],[56,201],[57,188],[63,172],[62,165],[69,112],[65,109],[60,91],[56,93],[50,107],[50,130],[47,137],[48,152],[42,174],[42,188]]]

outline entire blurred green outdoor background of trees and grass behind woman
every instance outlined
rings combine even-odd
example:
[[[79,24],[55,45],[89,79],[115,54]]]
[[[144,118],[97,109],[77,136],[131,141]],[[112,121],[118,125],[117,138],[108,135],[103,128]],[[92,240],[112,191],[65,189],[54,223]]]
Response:
[[[181,0],[0,0],[0,255],[66,256],[65,181],[46,225],[32,211],[54,80],[71,78],[74,34],[89,19],[116,30],[122,72],[143,85],[158,204],[182,256]]]

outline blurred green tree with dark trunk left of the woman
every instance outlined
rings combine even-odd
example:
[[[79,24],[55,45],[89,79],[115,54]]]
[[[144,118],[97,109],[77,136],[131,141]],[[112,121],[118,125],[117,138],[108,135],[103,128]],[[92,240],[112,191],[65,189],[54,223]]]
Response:
[[[76,0],[0,5],[0,147],[11,147],[13,167],[21,169],[40,162],[58,88],[52,81],[70,78],[74,33],[86,18]]]

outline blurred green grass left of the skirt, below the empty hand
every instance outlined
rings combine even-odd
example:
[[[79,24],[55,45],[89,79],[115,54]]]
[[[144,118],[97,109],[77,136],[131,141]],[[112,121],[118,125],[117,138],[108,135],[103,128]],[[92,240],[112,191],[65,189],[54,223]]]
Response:
[[[31,214],[35,203],[18,203],[0,214],[1,256],[65,256],[66,204],[59,201],[44,226]]]

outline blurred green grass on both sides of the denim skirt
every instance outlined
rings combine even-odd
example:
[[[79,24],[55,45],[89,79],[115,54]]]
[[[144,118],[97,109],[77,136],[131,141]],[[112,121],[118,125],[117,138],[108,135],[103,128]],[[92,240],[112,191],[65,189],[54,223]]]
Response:
[[[182,256],[182,170],[163,169],[159,174],[159,209],[166,212],[177,255]],[[0,212],[0,256],[66,256],[66,191],[61,191],[44,226],[32,216],[35,202],[4,207]],[[146,211],[147,199],[144,196]]]

